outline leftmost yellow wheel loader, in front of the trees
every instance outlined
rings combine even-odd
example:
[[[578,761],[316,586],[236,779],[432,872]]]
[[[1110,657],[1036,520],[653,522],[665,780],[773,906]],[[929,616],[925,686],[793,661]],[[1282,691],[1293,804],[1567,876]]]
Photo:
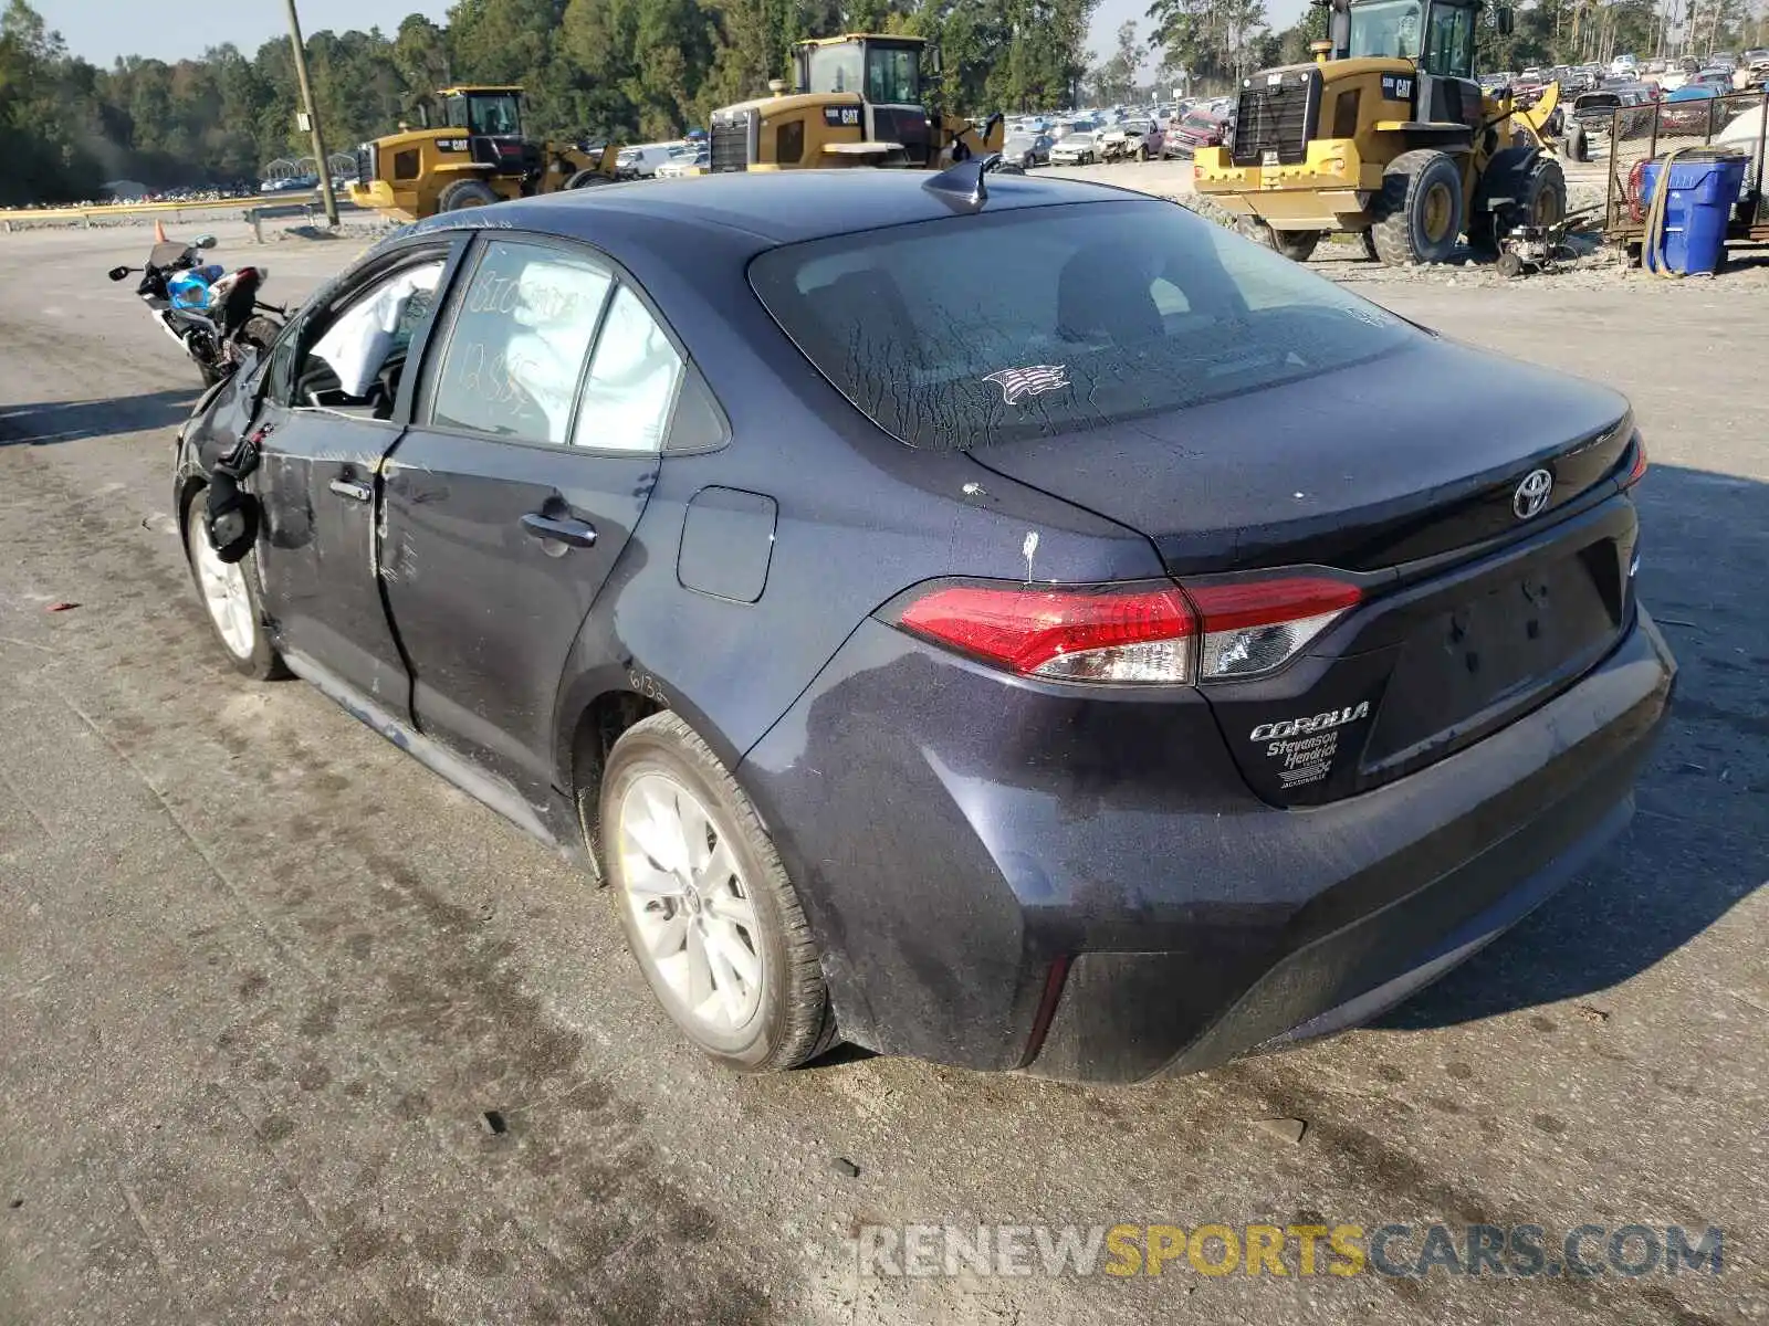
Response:
[[[356,150],[350,202],[419,221],[437,212],[506,198],[582,189],[614,179],[619,147],[536,143],[522,134],[522,88],[451,87],[437,92],[435,118]]]

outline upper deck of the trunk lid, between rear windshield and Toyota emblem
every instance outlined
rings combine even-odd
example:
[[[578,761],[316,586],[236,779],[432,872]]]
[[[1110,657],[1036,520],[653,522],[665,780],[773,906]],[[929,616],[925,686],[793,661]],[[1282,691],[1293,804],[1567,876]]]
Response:
[[[1504,536],[1530,470],[1541,523],[1627,447],[1612,391],[1419,339],[1375,361],[971,456],[1153,539],[1175,575],[1396,566]]]

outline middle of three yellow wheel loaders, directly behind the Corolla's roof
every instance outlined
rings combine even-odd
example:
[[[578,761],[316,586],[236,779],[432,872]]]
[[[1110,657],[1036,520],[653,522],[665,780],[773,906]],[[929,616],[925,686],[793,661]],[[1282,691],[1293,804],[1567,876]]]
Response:
[[[713,111],[708,171],[907,166],[945,170],[999,152],[1001,117],[978,127],[929,111],[922,69],[939,48],[922,37],[851,32],[793,48],[796,88]]]

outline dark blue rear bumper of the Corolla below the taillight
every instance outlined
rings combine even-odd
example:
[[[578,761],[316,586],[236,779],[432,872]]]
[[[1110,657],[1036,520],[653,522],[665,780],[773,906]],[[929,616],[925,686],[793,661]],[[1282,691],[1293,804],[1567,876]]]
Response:
[[[867,622],[739,776],[844,1034],[1129,1082],[1355,1025],[1502,934],[1627,822],[1673,679],[1640,612],[1475,746],[1275,810],[1192,695],[1007,682]]]

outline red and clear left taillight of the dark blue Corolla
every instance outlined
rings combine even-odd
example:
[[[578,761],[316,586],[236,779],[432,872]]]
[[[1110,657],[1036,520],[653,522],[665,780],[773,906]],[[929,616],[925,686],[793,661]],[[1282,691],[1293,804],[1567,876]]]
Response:
[[[895,622],[1022,677],[1183,686],[1272,672],[1360,598],[1343,580],[1306,575],[1183,589],[941,585]]]

